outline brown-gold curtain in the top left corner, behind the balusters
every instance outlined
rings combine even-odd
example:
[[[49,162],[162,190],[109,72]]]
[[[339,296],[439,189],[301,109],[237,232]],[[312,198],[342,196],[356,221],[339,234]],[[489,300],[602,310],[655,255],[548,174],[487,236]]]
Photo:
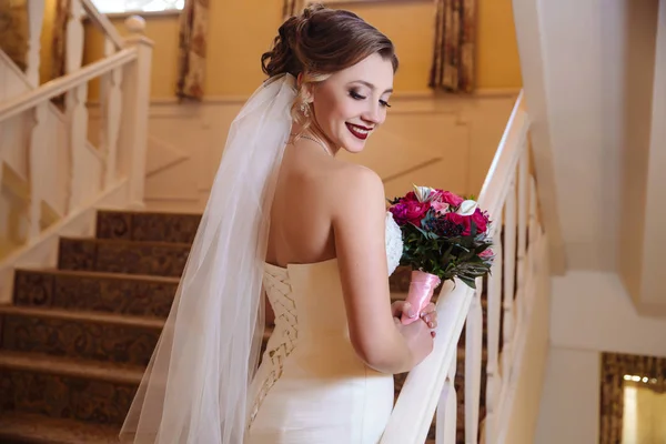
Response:
[[[28,32],[27,1],[0,0],[0,50],[23,71],[28,68]]]

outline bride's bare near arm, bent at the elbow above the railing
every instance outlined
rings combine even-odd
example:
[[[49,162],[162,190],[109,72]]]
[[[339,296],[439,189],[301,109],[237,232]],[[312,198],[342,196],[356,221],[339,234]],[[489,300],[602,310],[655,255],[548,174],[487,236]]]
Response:
[[[341,175],[332,221],[351,341],[369,366],[402,373],[430,354],[431,331],[425,322],[402,325],[393,317],[381,179],[357,165]]]

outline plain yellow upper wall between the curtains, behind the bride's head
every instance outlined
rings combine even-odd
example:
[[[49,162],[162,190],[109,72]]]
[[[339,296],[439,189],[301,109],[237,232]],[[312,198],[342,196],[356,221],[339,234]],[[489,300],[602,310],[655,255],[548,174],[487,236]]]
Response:
[[[52,1],[52,0],[51,0]],[[522,84],[511,0],[477,0],[477,88]],[[345,3],[395,43],[401,69],[396,91],[427,90],[433,52],[433,1]],[[282,0],[210,2],[206,95],[245,95],[264,79],[260,57],[281,22]],[[178,60],[178,17],[150,17],[147,34],[155,41],[153,98],[173,97]],[[122,20],[114,20],[123,31]],[[87,27],[85,62],[101,54],[101,36]],[[93,89],[94,90],[94,89]]]

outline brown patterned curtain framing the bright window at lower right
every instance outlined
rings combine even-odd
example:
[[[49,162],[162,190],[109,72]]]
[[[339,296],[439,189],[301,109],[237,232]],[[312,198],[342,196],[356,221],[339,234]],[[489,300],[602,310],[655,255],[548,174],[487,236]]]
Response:
[[[622,443],[625,375],[639,377],[642,387],[664,393],[666,359],[616,353],[602,355],[599,444]]]

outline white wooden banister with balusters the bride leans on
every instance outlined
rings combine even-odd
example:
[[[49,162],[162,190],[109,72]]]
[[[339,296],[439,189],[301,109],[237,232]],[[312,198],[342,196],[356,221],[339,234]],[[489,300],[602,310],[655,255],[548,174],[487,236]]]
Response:
[[[503,418],[512,408],[508,382],[516,372],[516,359],[522,355],[518,349],[524,343],[516,335],[525,331],[523,324],[532,301],[525,291],[526,282],[533,278],[533,268],[527,263],[537,260],[531,252],[541,240],[535,181],[528,168],[527,130],[521,94],[478,198],[480,206],[493,221],[495,261],[487,285],[486,279],[477,279],[476,290],[457,281],[455,285],[443,285],[437,300],[440,326],[434,351],[407,375],[382,444],[423,443],[435,410],[435,442],[460,442],[455,376],[462,351],[464,442],[502,442],[506,427]],[[464,345],[460,345],[464,349],[458,352],[463,326]]]

